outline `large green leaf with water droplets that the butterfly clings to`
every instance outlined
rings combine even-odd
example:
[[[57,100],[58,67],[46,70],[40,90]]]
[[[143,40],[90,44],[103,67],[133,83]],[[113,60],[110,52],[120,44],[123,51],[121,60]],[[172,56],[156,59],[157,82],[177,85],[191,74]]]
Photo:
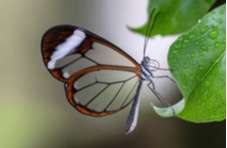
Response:
[[[226,9],[207,14],[180,36],[168,54],[172,75],[185,98],[177,116],[193,122],[226,116]]]

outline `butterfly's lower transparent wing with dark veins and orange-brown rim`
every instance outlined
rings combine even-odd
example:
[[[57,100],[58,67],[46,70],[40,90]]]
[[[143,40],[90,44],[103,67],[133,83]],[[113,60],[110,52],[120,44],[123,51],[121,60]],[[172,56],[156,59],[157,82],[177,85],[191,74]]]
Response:
[[[110,68],[82,70],[66,82],[67,98],[78,111],[103,116],[125,108],[133,100],[139,77]]]

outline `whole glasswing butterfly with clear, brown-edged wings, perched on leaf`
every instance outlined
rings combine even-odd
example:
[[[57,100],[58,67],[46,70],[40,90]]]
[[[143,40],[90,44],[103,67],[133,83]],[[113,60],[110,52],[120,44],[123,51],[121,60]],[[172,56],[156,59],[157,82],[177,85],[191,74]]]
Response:
[[[150,20],[153,13],[154,10]],[[140,64],[111,42],[70,25],[55,26],[46,31],[41,41],[43,61],[49,72],[64,83],[69,103],[83,114],[106,116],[132,102],[126,122],[126,133],[130,133],[137,124],[143,82],[149,81],[150,90],[163,101],[152,79],[170,78],[154,76],[154,71],[167,69],[161,69],[158,61],[145,56],[153,26],[149,21]]]

